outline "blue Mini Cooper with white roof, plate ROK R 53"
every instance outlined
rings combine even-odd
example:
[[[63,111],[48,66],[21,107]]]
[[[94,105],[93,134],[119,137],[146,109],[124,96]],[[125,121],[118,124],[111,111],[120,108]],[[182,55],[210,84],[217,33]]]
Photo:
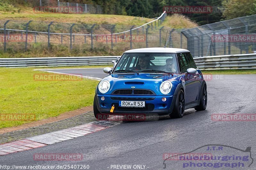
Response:
[[[125,114],[180,118],[185,109],[206,109],[206,83],[186,49],[128,50],[113,70],[103,71],[109,76],[96,88],[93,111],[97,119]]]

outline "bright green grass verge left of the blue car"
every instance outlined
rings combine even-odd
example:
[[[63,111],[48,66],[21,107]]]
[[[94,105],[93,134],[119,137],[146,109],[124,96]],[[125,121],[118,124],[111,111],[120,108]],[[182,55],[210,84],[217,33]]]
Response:
[[[41,120],[93,104],[99,81],[35,81],[37,73],[45,74],[33,68],[0,68],[0,114],[35,114]],[[0,128],[28,122],[1,117]]]

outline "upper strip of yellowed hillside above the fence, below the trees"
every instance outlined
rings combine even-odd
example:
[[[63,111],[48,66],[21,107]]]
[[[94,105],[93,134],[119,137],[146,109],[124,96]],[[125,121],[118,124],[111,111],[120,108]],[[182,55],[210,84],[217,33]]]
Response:
[[[33,21],[54,21],[79,24],[117,24],[117,25],[142,25],[152,19],[104,14],[60,14],[60,13],[34,13],[32,8],[23,12],[1,12],[0,20],[33,20]]]

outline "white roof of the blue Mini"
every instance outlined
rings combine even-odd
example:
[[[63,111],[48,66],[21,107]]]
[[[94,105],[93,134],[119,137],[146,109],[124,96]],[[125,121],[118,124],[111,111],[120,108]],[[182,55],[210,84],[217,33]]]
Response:
[[[125,51],[124,53],[185,53],[185,52],[190,52],[190,51],[182,48],[156,47],[156,48],[130,49]]]

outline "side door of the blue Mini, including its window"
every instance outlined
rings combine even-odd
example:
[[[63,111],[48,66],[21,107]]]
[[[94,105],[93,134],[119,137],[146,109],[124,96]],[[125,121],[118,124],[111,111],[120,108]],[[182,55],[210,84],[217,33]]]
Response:
[[[191,66],[186,53],[178,53],[177,55],[180,73],[185,80],[185,104],[187,104],[196,100],[198,85],[196,84],[195,75],[187,73],[187,69]]]

